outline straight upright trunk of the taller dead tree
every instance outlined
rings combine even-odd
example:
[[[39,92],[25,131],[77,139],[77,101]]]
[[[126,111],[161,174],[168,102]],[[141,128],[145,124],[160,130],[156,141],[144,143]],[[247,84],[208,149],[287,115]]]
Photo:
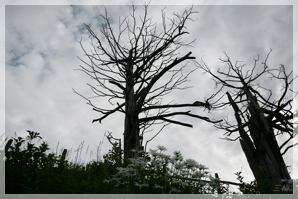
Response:
[[[130,51],[132,54],[132,50]],[[131,55],[128,58],[130,60]],[[133,63],[129,61],[126,66],[126,86],[125,86],[125,121],[124,121],[124,161],[128,158],[136,158],[137,153],[131,149],[141,150],[139,113],[137,101],[134,93]]]

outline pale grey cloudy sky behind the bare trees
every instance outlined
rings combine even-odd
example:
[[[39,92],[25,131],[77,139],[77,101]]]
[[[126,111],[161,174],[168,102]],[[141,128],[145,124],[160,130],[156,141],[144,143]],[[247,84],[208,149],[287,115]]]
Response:
[[[84,3],[78,1],[75,4]],[[154,3],[156,1],[151,1],[148,14],[159,25],[164,5]],[[159,3],[162,4],[162,1]],[[166,1],[164,3],[168,4]],[[59,149],[72,148],[75,151],[84,141],[81,157],[82,161],[86,158],[88,162],[95,158],[96,146],[102,140],[101,154],[111,148],[104,138],[105,132],[112,132],[114,138],[123,140],[124,115],[117,113],[105,118],[102,124],[92,124],[93,119],[102,115],[92,111],[87,101],[73,92],[74,89],[85,97],[93,97],[94,93],[87,83],[96,85],[85,73],[75,70],[84,64],[76,57],[84,59],[84,52],[76,40],[82,38],[82,44],[88,49],[90,38],[83,23],[90,24],[91,29],[102,37],[100,28],[103,20],[100,14],[104,14],[106,9],[117,30],[119,17],[122,19],[129,15],[132,7],[130,1],[121,1],[122,5],[69,5],[73,4],[69,1],[65,4],[5,5],[5,138],[14,137],[15,132],[26,137],[26,130],[39,132],[54,151],[58,142]],[[142,16],[143,6],[136,7],[136,13]],[[183,12],[185,7],[187,5],[167,5],[166,17],[173,17],[173,11]],[[276,68],[284,64],[288,71],[293,70],[292,5],[194,5],[193,10],[198,12],[193,15],[197,20],[188,21],[186,27],[190,34],[183,41],[196,41],[193,47],[181,49],[180,57],[191,51],[191,56],[195,56],[197,61],[202,58],[215,71],[226,66],[218,59],[224,56],[223,51],[233,63],[243,61],[247,67],[253,66],[254,58],[259,54],[257,67],[261,68],[262,61],[272,48],[268,66]],[[189,68],[194,69],[195,65],[190,63]],[[192,88],[175,90],[164,96],[163,102],[204,101],[205,97],[216,92],[210,76],[202,75],[202,72],[198,69],[190,75],[190,81],[185,86]],[[278,95],[280,84],[270,82],[267,77],[259,82]],[[93,102],[100,106],[105,101],[105,98],[96,98]],[[199,107],[183,109],[188,110],[216,120],[229,113],[232,121],[233,116],[229,108],[211,113]],[[167,147],[169,155],[174,150],[180,150],[185,159],[192,158],[208,166],[213,176],[218,173],[225,181],[237,182],[234,173],[239,171],[243,172],[245,182],[254,179],[238,140],[220,139],[224,138],[225,132],[206,121],[187,117],[177,117],[175,120],[192,124],[193,128],[170,124],[148,143],[147,149],[163,145]],[[160,127],[156,126],[146,133],[144,142],[156,135]],[[237,133],[232,136],[238,137]],[[91,155],[90,158],[91,151],[93,157]],[[76,152],[73,152],[71,156],[75,155]],[[286,165],[293,166],[293,148],[283,157]],[[294,164],[297,163],[295,159]],[[298,178],[297,172],[293,175],[293,167],[288,170],[292,178]]]

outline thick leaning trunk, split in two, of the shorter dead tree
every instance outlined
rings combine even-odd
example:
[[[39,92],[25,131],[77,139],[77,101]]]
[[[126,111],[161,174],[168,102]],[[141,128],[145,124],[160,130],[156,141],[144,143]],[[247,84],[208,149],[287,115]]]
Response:
[[[229,102],[235,111],[235,117],[238,123],[238,129],[241,138],[240,144],[245,153],[247,161],[255,179],[258,181],[260,178],[265,178],[268,186],[273,191],[275,188],[274,183],[279,183],[280,179],[291,179],[288,169],[286,168],[283,157],[280,153],[279,146],[274,136],[273,128],[270,128],[268,121],[261,111],[260,106],[255,96],[244,87],[244,92],[249,100],[249,112],[248,127],[252,137],[247,135],[241,124],[240,110],[232,100],[231,96],[227,92]],[[260,176],[259,166],[262,166],[262,175]]]

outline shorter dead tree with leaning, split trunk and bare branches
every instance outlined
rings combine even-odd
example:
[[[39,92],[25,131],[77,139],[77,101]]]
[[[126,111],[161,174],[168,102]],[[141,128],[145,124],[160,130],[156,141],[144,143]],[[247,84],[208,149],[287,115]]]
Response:
[[[268,69],[267,58],[262,63],[263,70],[257,74],[254,73],[256,68],[260,68],[256,66],[259,55],[258,59],[255,59],[254,66],[249,68],[245,65],[238,66],[238,61],[233,65],[227,55],[226,59],[220,58],[223,63],[227,63],[227,70],[221,68],[217,70],[217,73],[213,73],[204,61],[198,63],[198,67],[203,69],[204,73],[212,75],[216,87],[221,85],[220,91],[227,90],[228,101],[226,102],[223,102],[224,95],[219,98],[215,97],[219,92],[209,98],[209,100],[216,98],[214,103],[210,102],[211,110],[231,105],[235,112],[237,124],[231,125],[225,119],[223,123],[215,126],[226,130],[229,133],[227,136],[233,132],[239,132],[240,135],[236,139],[227,137],[224,139],[230,141],[239,139],[255,179],[258,181],[261,178],[258,175],[261,166],[263,178],[266,179],[271,190],[274,190],[274,183],[279,183],[280,179],[291,179],[282,155],[297,143],[284,149],[294,137],[294,115],[291,106],[293,99],[288,94],[293,81],[292,72],[287,74],[283,65],[280,65],[278,69]],[[257,80],[260,81],[260,78],[264,78],[263,75],[269,75],[270,80],[283,81],[279,100],[271,100],[271,90],[255,83]],[[288,96],[290,98],[287,98]],[[288,138],[279,146],[276,136],[281,134],[287,135]]]

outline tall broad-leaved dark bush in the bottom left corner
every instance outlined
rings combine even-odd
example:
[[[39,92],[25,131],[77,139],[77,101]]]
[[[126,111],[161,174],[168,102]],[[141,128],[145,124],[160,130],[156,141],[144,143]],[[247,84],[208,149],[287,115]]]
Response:
[[[11,151],[5,152],[5,194],[47,193],[55,181],[58,157],[52,153],[45,154],[49,149],[45,142],[39,147],[32,144],[34,139],[42,139],[39,133],[27,132],[29,136],[26,139],[14,138],[15,144],[10,146]],[[27,147],[22,150],[21,145],[25,141],[28,141]]]

